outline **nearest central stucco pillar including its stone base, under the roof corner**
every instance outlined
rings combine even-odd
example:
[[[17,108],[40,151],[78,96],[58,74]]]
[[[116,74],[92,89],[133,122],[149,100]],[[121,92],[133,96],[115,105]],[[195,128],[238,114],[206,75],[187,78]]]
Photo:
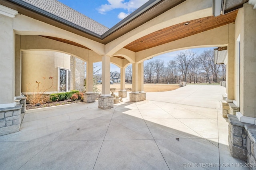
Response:
[[[99,108],[114,107],[114,97],[110,95],[110,56],[102,56],[102,93],[99,96]]]

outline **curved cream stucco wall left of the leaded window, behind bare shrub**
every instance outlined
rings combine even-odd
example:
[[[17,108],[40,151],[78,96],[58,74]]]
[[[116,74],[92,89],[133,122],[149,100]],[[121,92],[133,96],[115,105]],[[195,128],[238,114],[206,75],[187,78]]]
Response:
[[[22,51],[22,93],[27,92],[28,83],[31,83],[28,92],[37,92],[36,81],[43,84],[42,77],[46,77],[44,87],[50,87],[50,76],[54,77],[54,88],[47,92],[58,91],[58,67],[70,69],[70,55],[54,51]]]

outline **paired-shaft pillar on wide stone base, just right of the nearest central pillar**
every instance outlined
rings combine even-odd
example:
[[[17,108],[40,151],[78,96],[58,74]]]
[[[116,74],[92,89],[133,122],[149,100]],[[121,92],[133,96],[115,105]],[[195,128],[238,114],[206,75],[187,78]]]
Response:
[[[130,93],[130,102],[139,102],[146,100],[146,93],[143,92],[143,63],[132,64],[132,92]]]

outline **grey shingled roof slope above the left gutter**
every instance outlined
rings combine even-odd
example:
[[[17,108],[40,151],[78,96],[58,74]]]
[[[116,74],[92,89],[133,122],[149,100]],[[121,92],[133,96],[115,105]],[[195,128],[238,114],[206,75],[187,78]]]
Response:
[[[46,12],[70,21],[80,27],[88,29],[98,35],[102,35],[108,28],[104,25],[84,16],[72,8],[58,2],[57,0],[22,0],[28,4],[36,6]]]

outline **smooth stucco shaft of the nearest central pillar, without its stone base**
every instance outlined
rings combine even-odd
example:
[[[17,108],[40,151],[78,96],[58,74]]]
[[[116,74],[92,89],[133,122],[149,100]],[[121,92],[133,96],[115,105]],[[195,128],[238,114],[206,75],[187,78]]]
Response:
[[[102,93],[101,96],[110,95],[110,56],[102,56]]]

